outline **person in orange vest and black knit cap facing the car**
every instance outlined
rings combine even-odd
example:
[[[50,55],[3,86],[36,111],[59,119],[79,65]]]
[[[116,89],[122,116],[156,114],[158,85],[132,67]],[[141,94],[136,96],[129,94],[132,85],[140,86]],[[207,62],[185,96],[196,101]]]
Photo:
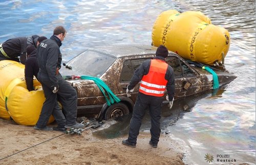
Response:
[[[173,106],[175,77],[173,68],[165,62],[168,50],[160,45],[156,57],[144,61],[134,72],[127,86],[126,94],[130,97],[136,84],[140,82],[139,93],[134,104],[128,139],[122,140],[125,146],[136,147],[141,121],[148,109],[151,116],[150,145],[157,148],[160,137],[160,119],[164,92],[167,89],[169,108]]]

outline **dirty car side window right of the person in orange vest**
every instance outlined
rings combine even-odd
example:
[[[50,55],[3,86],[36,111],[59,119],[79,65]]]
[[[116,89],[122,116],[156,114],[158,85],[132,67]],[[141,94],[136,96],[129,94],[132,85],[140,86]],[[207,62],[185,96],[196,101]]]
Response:
[[[167,57],[166,62],[173,67],[175,78],[195,76],[193,70],[178,57]]]

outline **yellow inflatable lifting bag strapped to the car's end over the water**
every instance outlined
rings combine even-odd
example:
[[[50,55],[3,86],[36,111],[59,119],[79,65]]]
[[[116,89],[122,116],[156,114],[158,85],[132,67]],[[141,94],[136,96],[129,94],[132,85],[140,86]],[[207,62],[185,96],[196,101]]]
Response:
[[[185,59],[214,65],[225,58],[230,36],[226,29],[212,25],[199,11],[168,10],[154,23],[152,43],[154,46],[163,44]]]

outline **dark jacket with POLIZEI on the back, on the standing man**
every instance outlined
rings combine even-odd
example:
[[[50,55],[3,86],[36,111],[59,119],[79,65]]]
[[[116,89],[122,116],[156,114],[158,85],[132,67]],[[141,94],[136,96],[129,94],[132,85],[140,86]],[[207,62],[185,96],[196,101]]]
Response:
[[[60,46],[60,39],[53,35],[50,39],[40,42],[37,48],[36,61],[39,66],[38,76],[40,74],[40,78],[49,79],[53,86],[57,86],[58,84],[56,68],[61,63]]]

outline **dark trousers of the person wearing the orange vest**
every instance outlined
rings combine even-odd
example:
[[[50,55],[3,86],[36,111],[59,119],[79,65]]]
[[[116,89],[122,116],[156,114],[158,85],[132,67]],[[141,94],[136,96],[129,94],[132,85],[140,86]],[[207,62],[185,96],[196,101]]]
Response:
[[[128,140],[131,143],[137,143],[137,137],[141,126],[141,121],[145,115],[146,110],[149,110],[151,116],[151,142],[158,144],[160,137],[160,119],[162,109],[163,97],[154,97],[144,95],[143,93],[138,94],[137,100],[133,108],[133,116],[130,122]]]

